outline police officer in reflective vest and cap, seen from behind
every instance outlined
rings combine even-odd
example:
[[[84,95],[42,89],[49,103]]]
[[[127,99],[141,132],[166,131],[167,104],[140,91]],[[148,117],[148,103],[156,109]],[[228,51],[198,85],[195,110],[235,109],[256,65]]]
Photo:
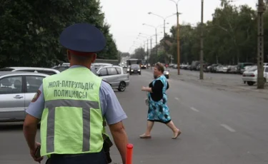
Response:
[[[89,70],[96,52],[106,46],[104,35],[90,24],[74,24],[61,33],[60,43],[68,49],[70,68],[44,78],[26,109],[24,136],[32,158],[40,162],[49,156],[51,164],[107,163],[102,136],[106,121],[126,163],[126,113],[111,86]],[[36,142],[40,121],[41,144]],[[39,145],[41,156],[36,155]]]

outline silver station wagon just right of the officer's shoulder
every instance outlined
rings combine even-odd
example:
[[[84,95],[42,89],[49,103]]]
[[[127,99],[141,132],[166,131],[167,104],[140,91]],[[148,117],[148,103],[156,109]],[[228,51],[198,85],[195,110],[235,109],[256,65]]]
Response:
[[[104,66],[96,74],[118,91],[125,91],[126,86],[129,86],[129,74],[121,66]]]

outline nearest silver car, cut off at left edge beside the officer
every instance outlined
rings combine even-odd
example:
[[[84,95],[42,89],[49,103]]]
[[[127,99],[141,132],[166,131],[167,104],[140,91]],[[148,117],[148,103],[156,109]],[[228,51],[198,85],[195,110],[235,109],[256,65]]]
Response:
[[[25,110],[46,76],[49,75],[0,71],[0,122],[24,121]]]

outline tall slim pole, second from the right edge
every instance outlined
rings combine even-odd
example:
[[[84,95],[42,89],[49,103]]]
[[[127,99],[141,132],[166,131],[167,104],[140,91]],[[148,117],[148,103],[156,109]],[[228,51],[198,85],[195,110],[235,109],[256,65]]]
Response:
[[[201,0],[201,35],[200,35],[200,74],[199,79],[204,79],[204,54],[203,54],[203,48],[204,48],[204,24],[203,24],[203,18],[204,18],[204,0]]]

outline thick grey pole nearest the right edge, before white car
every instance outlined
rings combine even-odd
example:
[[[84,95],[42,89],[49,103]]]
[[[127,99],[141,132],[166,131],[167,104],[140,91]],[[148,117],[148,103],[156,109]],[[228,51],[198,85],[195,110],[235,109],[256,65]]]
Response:
[[[264,1],[258,1],[258,48],[257,48],[257,68],[258,68],[258,76],[257,76],[257,88],[264,88]]]

